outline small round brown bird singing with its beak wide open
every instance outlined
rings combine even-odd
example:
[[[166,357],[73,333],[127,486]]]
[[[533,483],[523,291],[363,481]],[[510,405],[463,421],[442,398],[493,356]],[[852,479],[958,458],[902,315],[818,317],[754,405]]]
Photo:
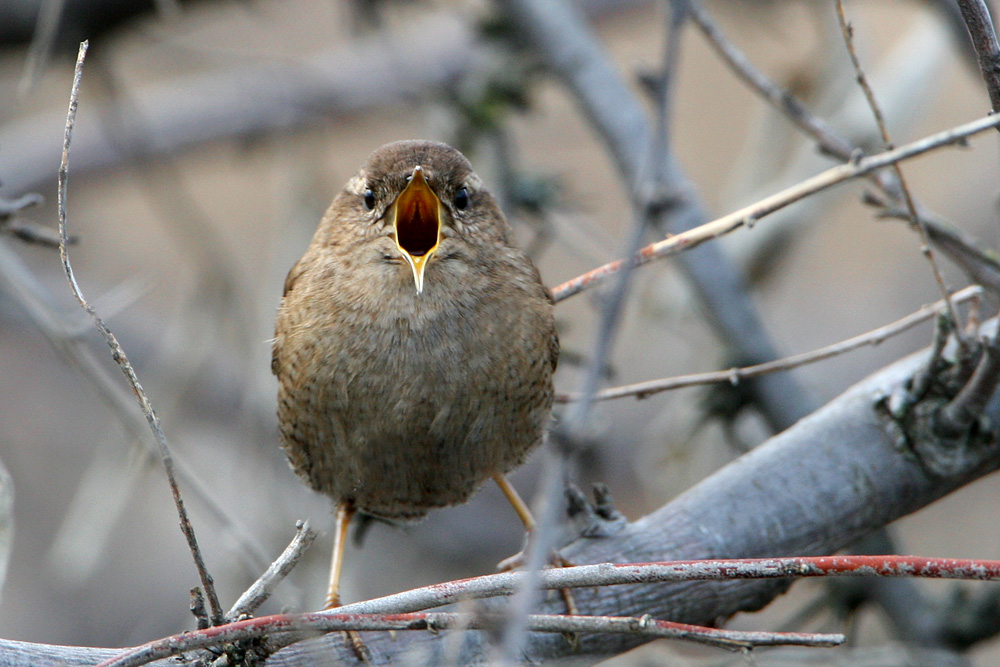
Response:
[[[281,442],[336,504],[327,608],[356,512],[413,520],[465,502],[543,441],[559,339],[552,297],[465,156],[379,148],[292,267],[271,369]]]

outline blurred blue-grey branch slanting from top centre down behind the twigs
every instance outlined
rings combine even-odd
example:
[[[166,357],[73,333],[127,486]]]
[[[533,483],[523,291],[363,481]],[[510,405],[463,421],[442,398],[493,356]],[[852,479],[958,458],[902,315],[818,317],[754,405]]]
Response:
[[[626,188],[636,188],[654,130],[640,101],[601,48],[576,3],[567,0],[502,0],[497,3],[530,40],[552,73],[566,83],[583,113],[601,136]],[[662,229],[689,230],[709,219],[704,202],[672,153],[664,160],[668,193],[674,199],[669,224]],[[767,361],[778,356],[744,278],[720,248],[705,246],[679,260],[709,323],[733,354]],[[794,378],[763,378],[753,392],[761,414],[781,430],[815,406]]]

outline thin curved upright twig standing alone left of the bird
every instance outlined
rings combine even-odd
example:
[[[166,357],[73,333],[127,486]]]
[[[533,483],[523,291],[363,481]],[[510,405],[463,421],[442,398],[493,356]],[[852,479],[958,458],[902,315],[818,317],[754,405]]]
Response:
[[[97,327],[97,330],[101,333],[101,336],[104,338],[108,347],[111,348],[112,359],[114,359],[118,364],[118,367],[121,368],[122,373],[124,373],[125,378],[132,387],[132,391],[135,394],[136,399],[139,401],[142,412],[146,416],[146,421],[153,431],[153,436],[156,439],[160,458],[163,461],[163,467],[166,470],[167,482],[170,484],[170,492],[174,498],[174,505],[177,507],[177,514],[180,518],[181,532],[184,533],[184,537],[187,540],[188,548],[191,550],[191,556],[194,558],[195,567],[198,570],[198,577],[201,579],[205,595],[208,597],[209,605],[212,611],[212,620],[215,623],[221,623],[223,619],[222,607],[219,604],[219,597],[215,591],[215,584],[205,567],[205,561],[201,555],[201,548],[198,546],[198,540],[194,534],[194,527],[188,519],[187,510],[184,509],[184,501],[181,498],[180,488],[177,486],[177,480],[174,475],[173,456],[171,455],[170,448],[167,445],[167,438],[163,434],[163,429],[160,425],[160,418],[153,411],[153,406],[146,397],[146,392],[139,383],[139,378],[135,374],[135,369],[132,368],[132,364],[129,363],[128,357],[125,355],[125,350],[122,349],[121,344],[111,332],[111,329],[109,329],[104,321],[97,315],[97,311],[94,310],[93,306],[91,306],[90,303],[88,303],[84,298],[83,292],[80,290],[80,286],[76,281],[76,276],[73,273],[73,267],[69,262],[69,249],[67,245],[68,237],[66,234],[66,193],[67,180],[69,178],[69,149],[70,142],[73,137],[73,127],[76,123],[76,110],[80,96],[80,80],[83,76],[83,62],[87,55],[87,46],[88,44],[86,41],[82,42],[80,44],[79,54],[77,55],[76,69],[73,74],[73,87],[70,92],[69,111],[66,114],[66,130],[63,136],[62,160],[59,163],[59,256],[62,260],[63,272],[66,274],[66,279],[69,281],[73,296],[76,297],[80,306],[87,312],[88,315],[90,315],[91,319],[94,321],[94,325]]]

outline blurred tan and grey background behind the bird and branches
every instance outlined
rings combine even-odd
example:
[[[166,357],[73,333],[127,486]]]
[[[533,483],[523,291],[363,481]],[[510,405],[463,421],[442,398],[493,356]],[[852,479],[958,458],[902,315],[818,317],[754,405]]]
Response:
[[[871,141],[875,126],[832,2],[705,6],[758,67],[858,143]],[[664,7],[580,7],[644,96],[643,75],[660,61]],[[897,145],[989,109],[952,9],[848,5]],[[285,273],[330,199],[383,143],[452,143],[501,198],[554,286],[620,255],[634,218],[630,187],[560,82],[485,0],[7,0],[0,195],[44,198],[8,232],[44,237],[55,228],[63,125],[84,38],[90,53],[68,200],[77,279],[163,421],[223,605],[280,553],[295,521],[309,519],[321,533],[317,545],[264,611],[318,608],[331,508],[300,484],[278,448],[268,339]],[[737,80],[701,33],[686,30],[683,40],[672,141],[713,215],[832,164]],[[928,207],[984,249],[997,247],[993,136],[904,169]],[[864,187],[842,186],[721,242],[752,282],[783,354],[862,333],[938,298],[920,240],[861,204]],[[191,627],[188,590],[198,582],[162,466],[107,347],[72,299],[58,251],[2,234],[0,266],[0,459],[15,525],[0,636],[124,646]],[[944,270],[951,287],[966,284],[954,267]],[[588,293],[557,308],[559,391],[578,388],[598,306]],[[924,325],[795,375],[822,403],[930,336]],[[607,384],[733,363],[671,261],[637,272]],[[602,404],[578,482],[607,482],[634,519],[768,435],[752,411],[728,422],[706,418],[706,396],[686,389]],[[536,467],[529,462],[513,478],[528,498]],[[997,480],[982,480],[902,520],[898,549],[1000,557],[998,492]],[[489,485],[468,505],[415,526],[374,526],[360,554],[349,548],[343,598],[490,572],[521,539],[520,523]],[[926,586],[942,597],[956,588]],[[763,614],[735,623],[777,629],[820,592],[798,584]],[[891,640],[878,613],[857,616],[852,627],[856,643]],[[692,664],[719,658],[639,651],[618,660],[638,664],[655,651]],[[996,659],[989,643],[972,653],[976,665]]]

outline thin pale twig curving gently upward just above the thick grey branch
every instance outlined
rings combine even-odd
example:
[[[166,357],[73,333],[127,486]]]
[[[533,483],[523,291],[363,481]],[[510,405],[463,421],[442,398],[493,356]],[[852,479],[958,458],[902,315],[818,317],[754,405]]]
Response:
[[[969,299],[978,299],[982,296],[982,293],[982,287],[972,285],[955,292],[955,294],[952,295],[952,299],[955,303],[962,303]],[[938,301],[924,306],[920,310],[896,320],[895,322],[873,329],[867,333],[854,336],[853,338],[848,338],[847,340],[827,345],[826,347],[821,347],[818,350],[803,352],[801,354],[793,354],[788,357],[784,357],[783,359],[776,359],[774,361],[769,361],[763,364],[755,364],[753,366],[744,366],[742,368],[731,368],[729,370],[711,371],[707,373],[691,373],[689,375],[678,375],[671,378],[637,382],[634,384],[622,385],[620,387],[609,387],[608,389],[603,389],[597,392],[594,395],[593,400],[607,401],[614,398],[624,398],[626,396],[635,396],[636,398],[641,399],[662,391],[681,389],[683,387],[693,387],[703,384],[714,384],[717,382],[730,382],[735,385],[742,380],[748,380],[759,375],[790,370],[806,364],[822,361],[823,359],[829,359],[830,357],[851,352],[852,350],[856,350],[865,345],[878,345],[887,338],[896,336],[913,328],[921,322],[929,320],[940,313],[945,307],[946,306],[943,300]],[[557,403],[571,403],[577,400],[579,400],[579,396],[577,394],[559,394],[556,396]]]

